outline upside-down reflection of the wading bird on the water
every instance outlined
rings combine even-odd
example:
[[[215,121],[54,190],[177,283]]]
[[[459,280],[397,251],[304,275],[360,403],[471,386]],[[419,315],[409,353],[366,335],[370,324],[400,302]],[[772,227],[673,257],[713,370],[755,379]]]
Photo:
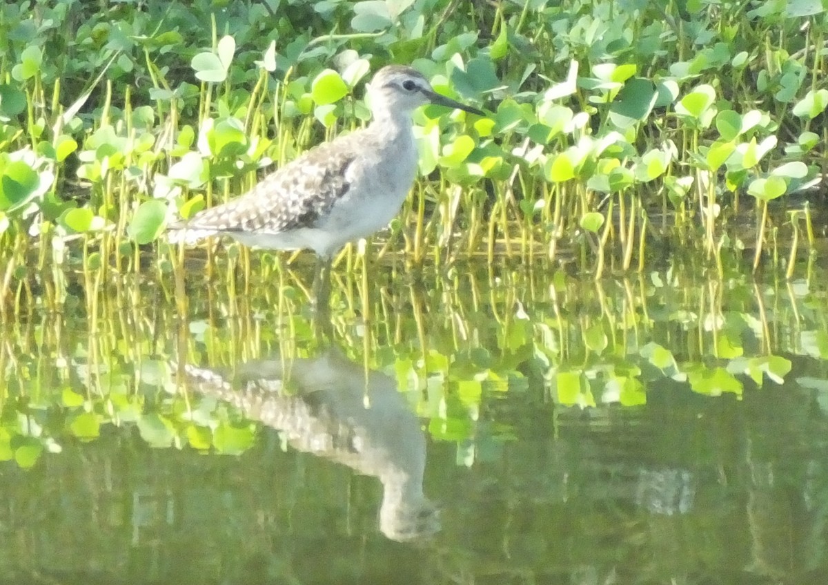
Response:
[[[426,539],[440,529],[422,491],[426,437],[392,378],[339,351],[314,359],[253,360],[233,375],[184,366],[186,384],[277,429],[291,447],[383,484],[379,527],[389,539]]]

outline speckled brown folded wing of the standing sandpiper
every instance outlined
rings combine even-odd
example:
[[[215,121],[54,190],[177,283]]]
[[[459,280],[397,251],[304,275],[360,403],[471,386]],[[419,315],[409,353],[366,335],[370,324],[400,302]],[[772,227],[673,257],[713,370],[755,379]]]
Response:
[[[265,176],[243,196],[200,211],[186,223],[186,230],[279,233],[314,227],[349,191],[346,171],[357,153],[346,147],[348,143],[320,144]]]

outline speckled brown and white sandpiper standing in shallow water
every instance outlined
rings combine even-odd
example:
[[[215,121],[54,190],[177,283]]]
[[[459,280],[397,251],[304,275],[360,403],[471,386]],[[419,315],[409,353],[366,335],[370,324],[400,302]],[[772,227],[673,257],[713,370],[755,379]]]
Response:
[[[310,149],[224,205],[170,226],[171,242],[229,235],[267,249],[313,249],[317,307],[327,307],[330,262],[344,244],[388,225],[416,177],[412,112],[441,104],[484,115],[437,94],[417,70],[388,65],[368,84],[372,122]]]

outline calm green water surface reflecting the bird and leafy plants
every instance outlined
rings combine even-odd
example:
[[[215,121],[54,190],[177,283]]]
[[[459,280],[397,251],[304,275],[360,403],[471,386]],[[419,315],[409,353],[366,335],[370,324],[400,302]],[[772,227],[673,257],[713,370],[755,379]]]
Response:
[[[0,582],[828,579],[824,281],[199,278],[3,325]]]

